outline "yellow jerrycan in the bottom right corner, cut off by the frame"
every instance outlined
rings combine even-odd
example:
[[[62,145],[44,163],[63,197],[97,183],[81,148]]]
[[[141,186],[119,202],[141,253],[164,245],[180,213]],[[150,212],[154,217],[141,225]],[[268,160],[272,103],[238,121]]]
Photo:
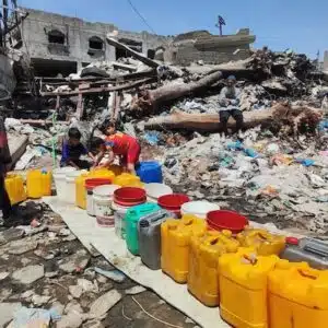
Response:
[[[305,262],[277,266],[268,277],[268,293],[270,328],[327,327],[327,270],[311,269]]]

